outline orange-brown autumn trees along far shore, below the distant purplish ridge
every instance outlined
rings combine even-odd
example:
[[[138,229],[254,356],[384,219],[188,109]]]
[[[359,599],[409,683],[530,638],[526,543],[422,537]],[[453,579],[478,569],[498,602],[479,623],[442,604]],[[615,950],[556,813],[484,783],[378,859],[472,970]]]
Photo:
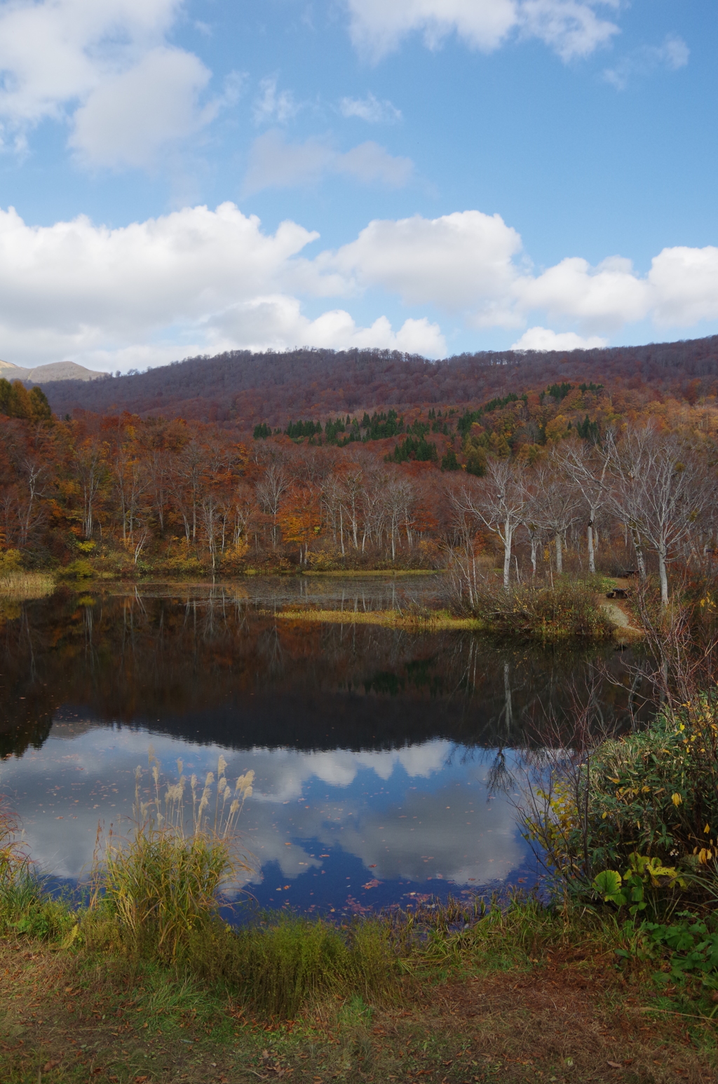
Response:
[[[710,397],[636,409],[625,389],[563,382],[240,439],[182,418],[60,420],[39,389],[2,383],[5,573],[441,568],[471,609],[498,566],[505,589],[657,575],[666,605],[671,568],[703,575],[716,549]]]

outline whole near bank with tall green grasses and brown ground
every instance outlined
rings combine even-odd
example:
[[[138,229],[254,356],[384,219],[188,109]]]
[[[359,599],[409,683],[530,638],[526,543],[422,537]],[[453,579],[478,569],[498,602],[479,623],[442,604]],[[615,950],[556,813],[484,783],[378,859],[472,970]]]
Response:
[[[78,913],[28,866],[11,880],[3,1084],[716,1079],[715,1003],[658,988],[661,959],[642,957],[610,908],[524,898],[244,928],[210,908],[172,958],[156,927],[138,940],[112,898]]]

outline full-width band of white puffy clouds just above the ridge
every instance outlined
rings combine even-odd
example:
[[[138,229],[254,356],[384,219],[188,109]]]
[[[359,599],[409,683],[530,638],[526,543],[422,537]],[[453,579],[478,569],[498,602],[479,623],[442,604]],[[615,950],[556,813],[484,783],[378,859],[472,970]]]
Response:
[[[232,347],[437,358],[447,351],[441,312],[454,328],[527,327],[517,349],[602,346],[645,319],[681,330],[718,320],[714,246],[664,248],[648,274],[617,256],[531,272],[518,233],[477,210],[373,221],[309,257],[318,236],[292,221],[267,232],[232,203],[117,229],[86,217],[31,227],[0,210],[0,352],[112,370]],[[360,295],[377,307],[362,323],[351,312]],[[397,300],[410,311],[392,322],[383,310]]]

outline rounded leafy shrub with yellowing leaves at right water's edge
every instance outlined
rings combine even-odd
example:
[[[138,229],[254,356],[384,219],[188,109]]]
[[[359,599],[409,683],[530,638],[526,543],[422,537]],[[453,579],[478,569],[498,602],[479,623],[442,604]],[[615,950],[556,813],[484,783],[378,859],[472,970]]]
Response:
[[[526,835],[562,881],[640,917],[718,894],[718,691],[566,754],[530,791]]]

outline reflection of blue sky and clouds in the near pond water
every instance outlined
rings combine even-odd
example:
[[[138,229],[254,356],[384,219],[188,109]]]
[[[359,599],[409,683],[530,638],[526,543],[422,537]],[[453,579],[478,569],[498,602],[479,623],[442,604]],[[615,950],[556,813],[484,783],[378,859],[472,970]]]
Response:
[[[526,856],[510,801],[488,798],[488,764],[444,740],[390,751],[238,752],[78,721],[55,724],[40,750],[0,765],[0,789],[44,868],[69,879],[87,868],[99,821],[107,827],[130,813],[134,769],[146,769],[151,744],[168,779],[178,758],[185,775],[202,777],[220,752],[228,778],[254,770],[244,842],[285,881],[319,874],[330,850],[354,855],[380,881],[462,888],[505,880]],[[261,877],[248,879],[258,886]],[[333,879],[315,885],[315,902],[330,903]]]

